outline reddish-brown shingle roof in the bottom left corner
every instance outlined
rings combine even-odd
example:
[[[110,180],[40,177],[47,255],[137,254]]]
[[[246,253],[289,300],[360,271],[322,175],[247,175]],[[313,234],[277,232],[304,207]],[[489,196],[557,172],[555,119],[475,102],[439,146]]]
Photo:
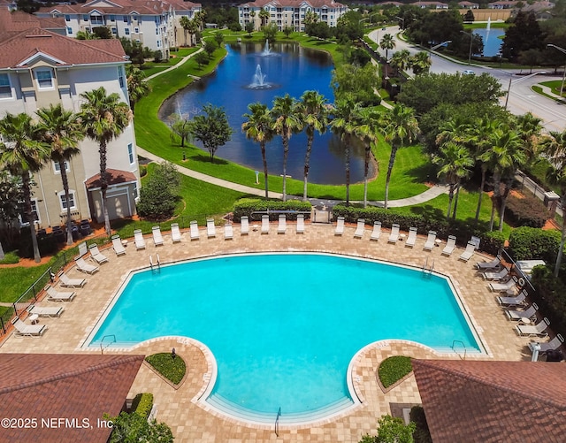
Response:
[[[111,429],[97,420],[119,414],[142,362],[143,355],[0,354],[0,416],[35,419],[32,427],[3,426],[0,439],[106,441]]]

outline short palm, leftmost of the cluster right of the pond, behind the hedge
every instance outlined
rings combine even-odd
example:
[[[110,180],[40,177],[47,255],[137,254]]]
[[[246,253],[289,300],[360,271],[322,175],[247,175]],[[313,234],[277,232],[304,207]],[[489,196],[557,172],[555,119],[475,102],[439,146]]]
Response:
[[[474,165],[473,158],[470,155],[470,151],[462,144],[455,141],[447,141],[440,148],[438,156],[432,158],[432,163],[440,165],[438,177],[444,175],[448,182],[447,219],[450,218],[450,209],[452,208],[452,200],[454,199],[454,192],[456,191],[454,213],[452,216],[452,218],[455,218],[460,181],[470,175],[470,168]]]

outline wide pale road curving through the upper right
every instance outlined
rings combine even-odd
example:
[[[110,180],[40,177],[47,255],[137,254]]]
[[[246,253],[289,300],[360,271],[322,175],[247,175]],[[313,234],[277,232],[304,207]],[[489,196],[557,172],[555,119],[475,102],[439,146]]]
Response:
[[[399,27],[387,27],[386,31],[381,29],[372,31],[370,38],[376,42],[379,41],[384,34],[393,34],[395,36],[395,48],[390,50],[388,57],[391,57],[394,52],[398,50],[409,50],[412,54],[416,54],[421,49],[403,42],[397,38]],[[384,50],[379,50],[381,54],[385,55]],[[566,128],[566,104],[556,102],[544,95],[536,94],[532,91],[532,86],[538,84],[540,81],[548,80],[562,80],[562,76],[552,74],[539,74],[526,78],[520,74],[520,70],[504,71],[500,69],[486,68],[478,65],[467,65],[456,63],[447,58],[431,54],[432,65],[431,73],[462,73],[464,70],[470,69],[476,75],[481,73],[488,73],[493,75],[500,81],[504,90],[509,90],[509,103],[508,109],[516,115],[521,115],[526,112],[532,112],[533,115],[541,118],[547,131],[562,132]],[[536,72],[536,71],[534,71]],[[525,72],[523,72],[525,73]],[[528,72],[527,72],[528,74]],[[543,80],[544,79],[544,80]],[[511,80],[511,87],[509,89],[509,80]],[[501,105],[505,105],[506,96],[501,98]]]

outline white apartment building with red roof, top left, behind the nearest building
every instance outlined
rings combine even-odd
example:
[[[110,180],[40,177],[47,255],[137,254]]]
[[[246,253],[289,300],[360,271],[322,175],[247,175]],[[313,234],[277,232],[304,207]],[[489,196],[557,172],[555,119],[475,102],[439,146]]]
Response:
[[[180,18],[193,19],[197,11],[201,11],[200,4],[181,0],[93,0],[43,7],[35,15],[65,19],[69,37],[76,37],[79,31],[89,33],[96,27],[107,27],[114,37],[141,42],[168,58],[171,48],[184,43]]]

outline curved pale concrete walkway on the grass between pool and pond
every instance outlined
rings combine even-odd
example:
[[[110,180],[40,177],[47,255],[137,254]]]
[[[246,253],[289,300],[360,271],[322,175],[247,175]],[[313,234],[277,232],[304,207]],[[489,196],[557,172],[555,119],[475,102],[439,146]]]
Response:
[[[137,151],[138,154],[142,157],[145,157],[149,160],[151,160],[152,162],[162,162],[164,161],[164,158],[161,157],[157,157],[155,154],[152,154],[151,152],[140,148],[139,146],[137,147]],[[183,174],[186,175],[187,177],[191,177],[193,179],[198,179],[201,181],[204,181],[206,183],[210,183],[212,185],[216,185],[219,187],[226,187],[227,189],[232,189],[233,191],[238,191],[241,192],[243,194],[249,194],[249,195],[257,195],[259,197],[263,197],[265,195],[265,191],[264,189],[258,189],[256,187],[249,187],[246,185],[240,185],[238,183],[233,183],[233,181],[228,181],[225,179],[218,179],[217,177],[212,177],[211,175],[206,175],[203,174],[202,172],[196,172],[193,171],[192,169],[188,169],[185,168],[183,166],[180,166],[179,164],[177,164],[177,170]],[[412,197],[409,198],[403,198],[400,200],[391,200],[388,202],[388,206],[391,208],[399,208],[402,206],[410,206],[413,204],[417,204],[417,203],[422,203],[422,202],[428,202],[429,200],[432,200],[436,197],[438,197],[439,195],[442,194],[446,194],[447,193],[447,187],[444,186],[434,186],[431,187],[430,189],[427,189],[426,191],[424,191],[424,193],[419,194],[419,195],[414,195]],[[283,195],[279,192],[273,192],[273,191],[269,191],[269,197],[270,198],[279,198],[282,199]],[[300,197],[294,196],[294,195],[289,195],[289,198],[294,198],[294,199],[298,199]],[[316,204],[325,204],[326,206],[332,207],[334,204],[341,202],[341,200],[326,200],[326,199],[318,199],[318,198],[310,198],[309,201],[311,203],[313,203],[314,205]],[[383,202],[370,202],[373,205],[376,206],[383,206]]]

